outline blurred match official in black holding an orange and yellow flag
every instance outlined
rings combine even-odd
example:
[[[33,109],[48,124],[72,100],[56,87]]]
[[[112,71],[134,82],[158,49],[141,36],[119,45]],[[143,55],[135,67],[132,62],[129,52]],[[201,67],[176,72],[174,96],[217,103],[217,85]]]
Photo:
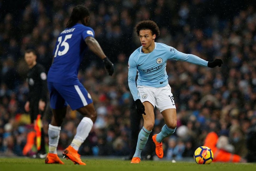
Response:
[[[31,123],[34,123],[36,131],[36,158],[45,158],[45,142],[44,131],[42,129],[42,116],[46,107],[47,98],[47,80],[44,66],[36,63],[36,52],[33,49],[28,49],[25,52],[25,61],[28,64],[29,70],[26,81],[28,82],[29,93],[28,101],[25,104],[25,111],[30,113]],[[41,135],[41,137],[40,137]],[[34,138],[34,137],[33,137]],[[40,143],[41,138],[41,143]]]

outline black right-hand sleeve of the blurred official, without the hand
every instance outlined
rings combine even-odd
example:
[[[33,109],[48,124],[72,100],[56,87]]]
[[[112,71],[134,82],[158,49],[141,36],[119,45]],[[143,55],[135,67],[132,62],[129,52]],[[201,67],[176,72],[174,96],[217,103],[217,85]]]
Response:
[[[45,73],[45,69],[43,67],[38,67],[38,74],[39,74],[39,80],[40,80],[40,86],[41,86],[41,93],[39,96],[39,99],[42,101],[46,101],[47,98],[47,76]]]

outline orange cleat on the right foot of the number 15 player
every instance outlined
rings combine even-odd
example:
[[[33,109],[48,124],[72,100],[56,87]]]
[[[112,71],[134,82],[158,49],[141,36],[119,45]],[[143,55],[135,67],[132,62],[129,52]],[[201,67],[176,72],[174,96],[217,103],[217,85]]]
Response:
[[[78,154],[77,150],[75,150],[73,147],[68,146],[63,154],[63,158],[70,159],[73,161],[75,164],[80,164],[80,165],[86,165],[84,162],[82,162],[80,158],[80,154]]]

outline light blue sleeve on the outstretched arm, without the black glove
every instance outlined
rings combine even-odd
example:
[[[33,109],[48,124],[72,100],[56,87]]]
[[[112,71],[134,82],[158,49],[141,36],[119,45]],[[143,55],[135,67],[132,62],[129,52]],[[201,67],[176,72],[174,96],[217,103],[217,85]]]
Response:
[[[207,66],[208,61],[203,60],[199,58],[196,55],[193,54],[185,54],[182,52],[179,52],[177,49],[169,46],[170,50],[168,49],[168,59],[174,59],[174,60],[181,60],[181,61],[187,61],[192,64],[197,64],[201,66]]]

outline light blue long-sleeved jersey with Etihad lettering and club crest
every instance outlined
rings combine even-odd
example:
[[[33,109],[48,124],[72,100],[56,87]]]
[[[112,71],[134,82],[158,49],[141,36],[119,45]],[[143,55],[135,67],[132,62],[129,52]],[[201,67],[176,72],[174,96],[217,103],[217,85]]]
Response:
[[[143,53],[142,46],[130,56],[128,62],[128,84],[133,99],[139,99],[135,77],[138,70],[137,86],[164,87],[168,84],[166,62],[168,59],[187,61],[192,64],[207,66],[207,61],[192,54],[184,54],[163,43],[156,43],[150,53]]]

